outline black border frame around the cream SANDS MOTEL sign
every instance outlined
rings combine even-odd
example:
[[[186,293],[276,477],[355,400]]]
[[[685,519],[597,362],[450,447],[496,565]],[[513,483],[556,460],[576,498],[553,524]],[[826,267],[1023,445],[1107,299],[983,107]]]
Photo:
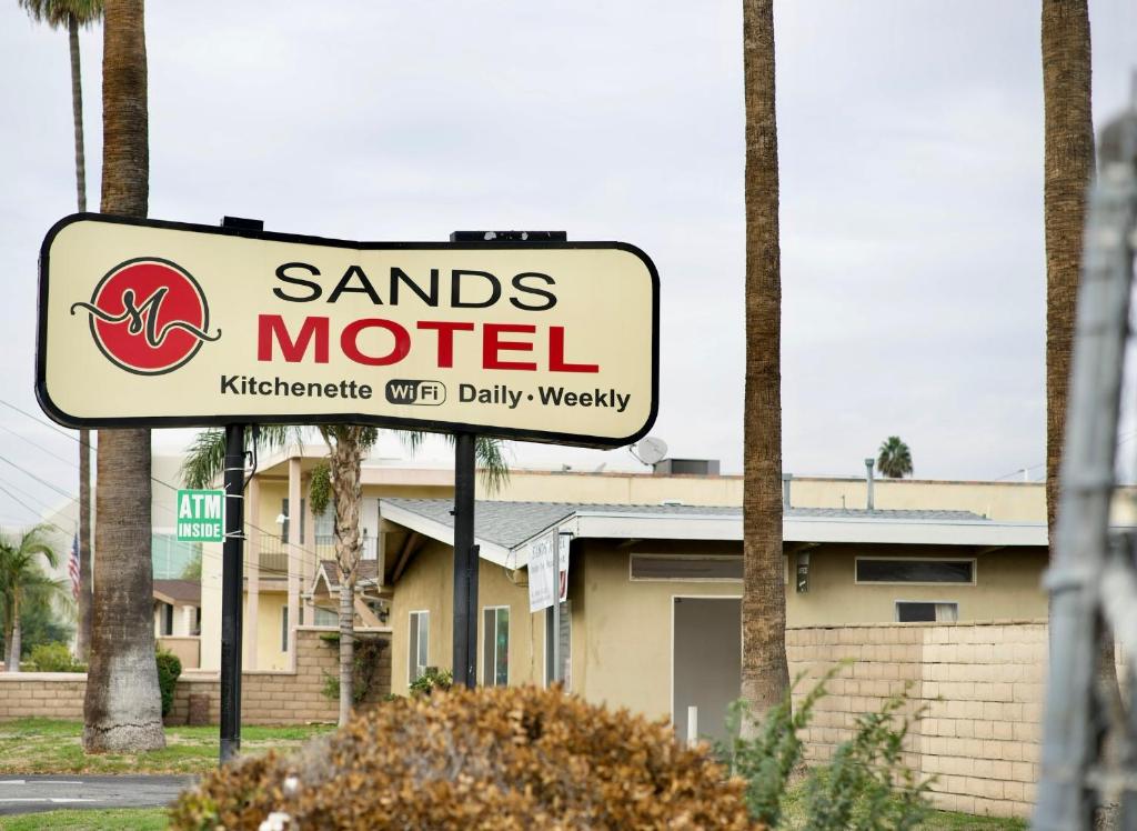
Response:
[[[105,222],[119,225],[138,225],[142,228],[159,228],[173,231],[192,231],[196,233],[211,233],[222,237],[243,237],[247,239],[259,239],[273,242],[299,242],[301,245],[326,246],[337,248],[357,248],[359,250],[402,250],[402,249],[433,249],[433,250],[487,250],[487,249],[614,249],[632,254],[647,266],[652,278],[652,406],[648,417],[636,433],[623,437],[592,436],[589,434],[554,433],[547,430],[522,430],[517,428],[493,427],[491,425],[472,425],[455,421],[439,421],[433,419],[406,419],[383,416],[370,416],[364,413],[338,413],[334,416],[323,414],[294,414],[294,416],[252,416],[242,414],[236,417],[189,417],[189,416],[164,416],[164,417],[140,417],[140,418],[108,418],[90,419],[77,418],[64,412],[51,400],[47,385],[47,308],[48,308],[48,272],[51,244],[55,238],[68,225],[76,222]],[[367,425],[383,427],[388,429],[422,430],[424,433],[472,433],[479,436],[491,436],[496,438],[513,439],[520,442],[540,442],[545,444],[564,444],[578,447],[622,447],[633,444],[648,434],[655,425],[659,412],[659,273],[652,258],[641,249],[628,242],[598,242],[598,241],[553,241],[536,240],[531,242],[518,241],[463,241],[463,242],[360,242],[347,239],[333,239],[330,237],[307,237],[298,233],[280,233],[276,231],[257,231],[244,228],[222,228],[218,225],[199,225],[189,222],[169,222],[165,220],[138,219],[133,216],[118,216],[114,214],[100,213],[76,213],[65,216],[51,227],[43,244],[40,246],[40,279],[39,279],[38,308],[36,308],[36,334],[35,334],[35,397],[40,408],[48,417],[64,427],[70,428],[94,428],[94,429],[118,429],[149,427],[153,429],[180,428],[180,427],[224,427],[230,423],[249,425]]]

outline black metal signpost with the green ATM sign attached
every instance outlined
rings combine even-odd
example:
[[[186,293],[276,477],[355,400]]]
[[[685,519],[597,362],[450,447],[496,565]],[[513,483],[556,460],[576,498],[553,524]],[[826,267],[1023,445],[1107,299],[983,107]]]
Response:
[[[241,749],[244,425],[225,427],[225,542],[221,577],[221,760]]]

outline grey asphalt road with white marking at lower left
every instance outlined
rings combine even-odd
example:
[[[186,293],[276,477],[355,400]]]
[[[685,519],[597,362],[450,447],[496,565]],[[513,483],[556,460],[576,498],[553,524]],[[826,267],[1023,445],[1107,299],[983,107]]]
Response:
[[[150,808],[169,805],[196,776],[0,776],[0,816],[59,808]]]

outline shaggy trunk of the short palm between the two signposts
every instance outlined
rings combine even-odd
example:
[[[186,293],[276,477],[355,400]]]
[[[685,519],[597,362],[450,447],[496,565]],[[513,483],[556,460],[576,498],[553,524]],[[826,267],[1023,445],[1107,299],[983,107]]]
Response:
[[[329,442],[332,493],[335,499],[335,559],[340,569],[340,725],[352,707],[355,669],[355,583],[359,568],[359,502],[363,499],[358,428],[335,430]],[[325,434],[326,437],[327,434]]]

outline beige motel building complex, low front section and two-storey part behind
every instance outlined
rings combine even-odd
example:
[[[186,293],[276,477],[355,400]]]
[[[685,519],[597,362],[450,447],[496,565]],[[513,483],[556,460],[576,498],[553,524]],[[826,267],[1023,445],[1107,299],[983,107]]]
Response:
[[[289,669],[297,626],[338,625],[330,512],[313,516],[306,499],[324,452],[262,459],[246,493],[246,669]],[[740,685],[742,591],[742,482],[716,467],[515,470],[492,495],[479,483],[479,683],[553,675],[551,609],[530,614],[526,566],[534,542],[559,532],[571,536],[565,686],[671,717],[680,735],[695,706],[699,732],[715,734]],[[390,637],[395,693],[428,667],[450,668],[453,477],[405,459],[364,462],[355,623]],[[872,510],[864,478],[787,485],[789,626],[1046,616],[1041,484],[877,480]],[[201,668],[216,670],[221,546],[204,549]]]

